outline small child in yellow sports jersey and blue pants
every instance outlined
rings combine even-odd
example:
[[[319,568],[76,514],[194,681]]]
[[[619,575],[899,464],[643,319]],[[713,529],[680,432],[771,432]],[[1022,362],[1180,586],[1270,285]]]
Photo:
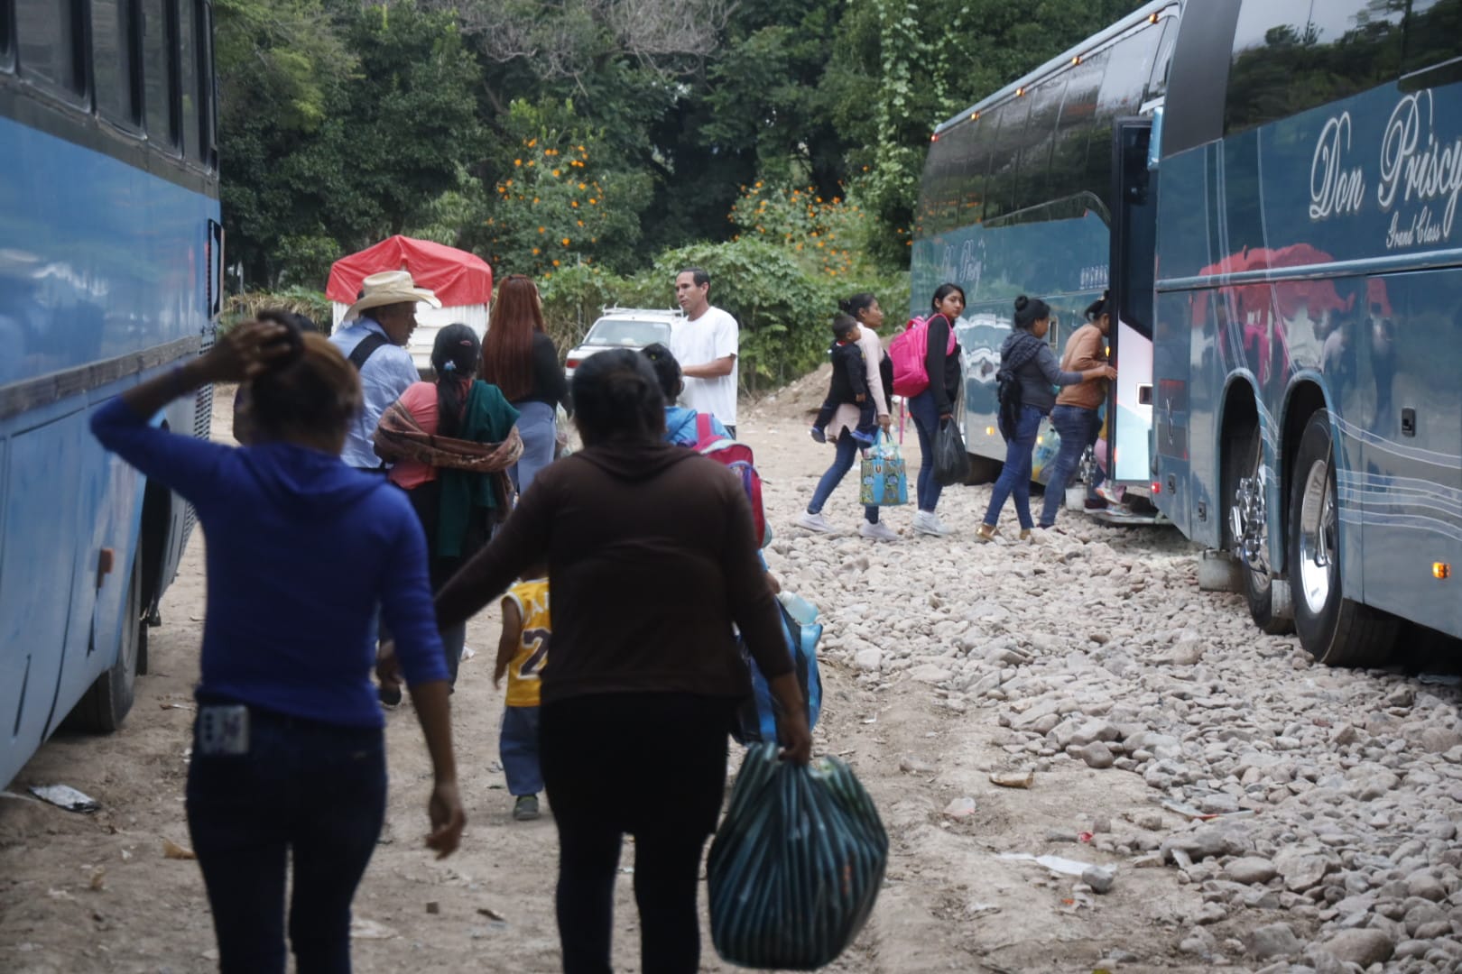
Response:
[[[538,793],[544,787],[538,767],[538,675],[548,662],[553,635],[547,575],[544,565],[531,565],[503,597],[503,635],[497,640],[493,669],[493,686],[500,686],[507,673],[499,752],[515,799],[513,818],[519,822],[538,818]]]

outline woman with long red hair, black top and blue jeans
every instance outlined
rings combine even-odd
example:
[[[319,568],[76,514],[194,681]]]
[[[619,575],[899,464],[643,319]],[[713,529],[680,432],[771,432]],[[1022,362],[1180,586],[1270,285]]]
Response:
[[[519,494],[553,461],[558,403],[567,407],[569,384],[558,364],[558,349],[544,331],[538,286],[525,275],[507,275],[497,285],[497,299],[482,340],[484,383],[497,386],[518,410],[523,456],[512,469]]]

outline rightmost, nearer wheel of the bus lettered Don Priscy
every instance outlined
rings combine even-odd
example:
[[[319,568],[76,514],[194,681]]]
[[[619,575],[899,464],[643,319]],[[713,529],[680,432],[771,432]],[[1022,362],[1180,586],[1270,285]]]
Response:
[[[1300,438],[1285,518],[1295,629],[1306,651],[1326,666],[1385,664],[1399,622],[1341,588],[1333,457],[1329,413],[1322,409]]]

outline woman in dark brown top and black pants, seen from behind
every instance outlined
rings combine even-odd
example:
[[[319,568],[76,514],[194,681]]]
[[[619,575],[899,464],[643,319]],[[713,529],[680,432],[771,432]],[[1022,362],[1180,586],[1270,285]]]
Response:
[[[547,561],[539,748],[558,827],[563,970],[611,970],[629,832],[642,970],[690,974],[700,856],[721,810],[731,717],[750,691],[732,624],[782,707],[784,756],[798,762],[811,753],[807,711],[737,478],[662,442],[664,396],[635,352],[586,361],[573,402],[583,450],[545,467],[437,594],[437,624],[465,621]]]

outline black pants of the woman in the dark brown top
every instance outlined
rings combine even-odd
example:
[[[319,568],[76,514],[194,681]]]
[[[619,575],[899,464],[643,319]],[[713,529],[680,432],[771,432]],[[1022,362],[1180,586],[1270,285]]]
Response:
[[[598,694],[539,708],[544,783],[558,825],[564,974],[611,971],[626,832],[635,837],[640,970],[699,968],[700,854],[721,812],[735,704],[692,694]]]

